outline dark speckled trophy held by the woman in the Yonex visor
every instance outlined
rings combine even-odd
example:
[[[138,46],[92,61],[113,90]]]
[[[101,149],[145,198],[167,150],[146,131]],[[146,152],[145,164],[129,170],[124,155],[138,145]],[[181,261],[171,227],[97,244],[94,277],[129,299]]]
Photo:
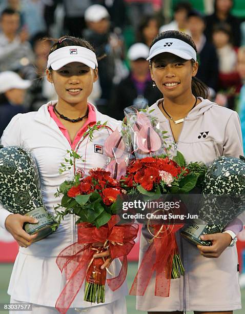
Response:
[[[194,245],[212,245],[202,234],[222,232],[245,210],[245,159],[220,156],[209,166],[203,184],[198,219],[186,225],[181,235]],[[208,223],[207,223],[208,222]],[[211,224],[214,222],[213,224]]]

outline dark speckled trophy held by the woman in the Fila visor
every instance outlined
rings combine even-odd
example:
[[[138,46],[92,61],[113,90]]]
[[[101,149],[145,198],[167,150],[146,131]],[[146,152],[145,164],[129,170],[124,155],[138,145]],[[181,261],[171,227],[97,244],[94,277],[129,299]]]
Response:
[[[53,232],[55,224],[43,203],[36,162],[19,146],[0,146],[0,203],[12,213],[32,216],[37,224],[25,223],[29,234],[38,233],[34,242]]]

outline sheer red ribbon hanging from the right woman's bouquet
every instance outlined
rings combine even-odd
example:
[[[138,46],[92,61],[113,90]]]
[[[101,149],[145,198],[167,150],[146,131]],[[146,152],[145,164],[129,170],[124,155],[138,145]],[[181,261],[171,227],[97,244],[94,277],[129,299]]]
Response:
[[[155,296],[169,297],[173,256],[178,250],[175,232],[182,226],[164,225],[162,227],[159,233],[161,238],[155,238],[145,253],[130,289],[130,295],[144,296],[152,274],[156,271]],[[153,227],[156,234],[161,226]]]

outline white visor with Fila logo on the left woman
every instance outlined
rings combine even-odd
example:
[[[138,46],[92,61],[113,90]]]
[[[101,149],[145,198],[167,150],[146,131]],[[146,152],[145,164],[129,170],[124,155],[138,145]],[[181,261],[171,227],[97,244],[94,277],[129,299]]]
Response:
[[[91,69],[98,67],[96,55],[92,50],[80,46],[67,46],[50,53],[47,68],[51,66],[56,71],[71,62],[83,63]]]

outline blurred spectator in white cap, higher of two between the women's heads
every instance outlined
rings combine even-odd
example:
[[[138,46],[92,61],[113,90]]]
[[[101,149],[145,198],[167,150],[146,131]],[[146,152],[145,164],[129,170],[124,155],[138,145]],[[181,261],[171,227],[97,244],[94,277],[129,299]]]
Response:
[[[125,71],[121,61],[123,42],[115,33],[110,32],[110,15],[104,6],[89,7],[85,11],[85,21],[88,28],[84,32],[84,37],[95,47],[98,55],[107,55],[98,62],[101,99],[96,103],[100,111],[107,113],[113,80],[120,81],[116,76],[118,75],[116,69],[120,69],[120,75],[124,75]]]

